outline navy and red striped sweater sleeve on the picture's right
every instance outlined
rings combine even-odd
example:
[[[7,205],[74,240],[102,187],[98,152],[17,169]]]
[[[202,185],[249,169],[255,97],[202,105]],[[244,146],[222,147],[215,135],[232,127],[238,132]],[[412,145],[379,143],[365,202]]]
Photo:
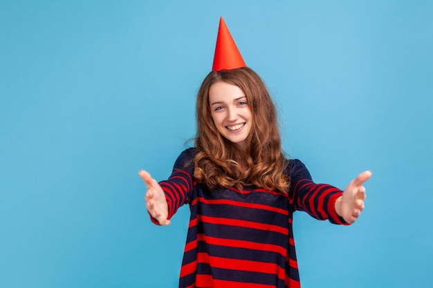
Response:
[[[291,160],[289,167],[295,210],[333,224],[348,224],[335,211],[335,201],[342,195],[340,189],[329,184],[315,184],[300,160]]]

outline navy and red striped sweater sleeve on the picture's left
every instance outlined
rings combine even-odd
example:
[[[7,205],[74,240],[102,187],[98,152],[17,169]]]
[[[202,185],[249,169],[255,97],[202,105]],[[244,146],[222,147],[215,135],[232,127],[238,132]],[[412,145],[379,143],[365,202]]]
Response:
[[[187,149],[179,155],[174,163],[172,175],[167,180],[159,182],[168,204],[167,219],[171,219],[183,204],[190,202],[194,186],[193,171],[192,153],[190,149]],[[154,224],[159,224],[158,220],[151,217],[150,214],[149,216]]]

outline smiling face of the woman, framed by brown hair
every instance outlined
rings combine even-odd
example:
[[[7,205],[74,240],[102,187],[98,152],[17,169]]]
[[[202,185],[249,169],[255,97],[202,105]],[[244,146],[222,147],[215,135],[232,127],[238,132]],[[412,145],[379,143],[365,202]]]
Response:
[[[252,112],[243,90],[218,81],[210,86],[209,106],[219,133],[244,151],[245,140],[252,128]]]

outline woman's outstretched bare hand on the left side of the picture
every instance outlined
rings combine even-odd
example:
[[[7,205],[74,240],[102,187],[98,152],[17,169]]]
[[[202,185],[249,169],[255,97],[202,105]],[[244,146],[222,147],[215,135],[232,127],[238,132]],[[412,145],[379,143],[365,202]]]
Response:
[[[146,209],[150,215],[158,220],[161,225],[169,225],[168,220],[168,204],[165,200],[165,193],[161,186],[144,170],[138,172],[142,180],[145,182],[147,192],[145,194]]]

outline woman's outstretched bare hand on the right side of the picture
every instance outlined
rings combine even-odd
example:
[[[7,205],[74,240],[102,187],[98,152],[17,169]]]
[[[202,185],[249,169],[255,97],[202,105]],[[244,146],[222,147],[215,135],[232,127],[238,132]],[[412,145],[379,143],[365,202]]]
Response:
[[[348,223],[355,222],[364,209],[365,188],[362,184],[369,180],[371,171],[364,171],[352,180],[343,194],[335,201],[335,212]]]

